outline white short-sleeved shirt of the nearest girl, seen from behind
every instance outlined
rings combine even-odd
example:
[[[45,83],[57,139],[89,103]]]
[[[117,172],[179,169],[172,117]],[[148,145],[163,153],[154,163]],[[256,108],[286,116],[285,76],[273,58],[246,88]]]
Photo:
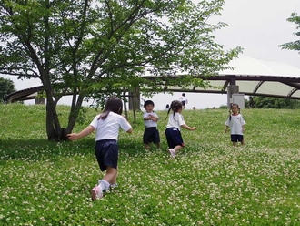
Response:
[[[114,112],[109,112],[107,117],[99,119],[100,115],[97,115],[91,122],[91,126],[95,128],[95,141],[102,139],[118,139],[119,129],[128,131],[131,126],[127,120]]]

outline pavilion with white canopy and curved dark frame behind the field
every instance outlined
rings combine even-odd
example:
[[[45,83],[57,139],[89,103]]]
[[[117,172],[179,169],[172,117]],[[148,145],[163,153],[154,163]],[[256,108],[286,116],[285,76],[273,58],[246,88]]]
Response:
[[[240,93],[247,96],[265,96],[274,98],[300,99],[300,68],[282,62],[256,59],[241,55],[229,64],[233,70],[219,72],[215,77],[199,77],[209,80],[212,87],[169,87],[165,91],[192,93],[227,94],[228,100],[232,94]],[[180,77],[181,75],[173,77]],[[153,79],[153,77],[148,77]],[[6,97],[6,102],[35,99],[43,86],[28,87],[18,90]],[[228,101],[229,103],[229,101]]]

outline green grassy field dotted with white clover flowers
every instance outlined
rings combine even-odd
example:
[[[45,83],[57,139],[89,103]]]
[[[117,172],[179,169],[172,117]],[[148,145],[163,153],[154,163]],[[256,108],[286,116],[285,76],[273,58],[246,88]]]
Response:
[[[65,127],[69,107],[59,106]],[[225,134],[226,109],[185,110],[195,131],[170,159],[145,152],[142,113],[120,132],[119,187],[102,200],[95,134],[50,142],[45,106],[0,105],[0,225],[300,225],[300,110],[244,109],[245,149]],[[95,117],[89,109],[79,132]]]

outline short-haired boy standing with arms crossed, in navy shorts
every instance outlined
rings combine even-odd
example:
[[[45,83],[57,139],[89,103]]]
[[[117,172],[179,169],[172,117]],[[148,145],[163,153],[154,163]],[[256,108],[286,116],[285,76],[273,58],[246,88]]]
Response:
[[[152,100],[146,100],[144,103],[145,113],[143,115],[145,123],[145,132],[143,141],[145,150],[150,149],[150,144],[153,142],[156,147],[160,149],[160,137],[157,129],[157,121],[159,120],[157,114],[153,111],[155,103]]]

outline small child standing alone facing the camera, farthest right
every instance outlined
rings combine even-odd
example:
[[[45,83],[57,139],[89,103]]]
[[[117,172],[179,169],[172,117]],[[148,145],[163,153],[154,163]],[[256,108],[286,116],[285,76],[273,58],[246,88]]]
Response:
[[[232,104],[230,107],[232,114],[229,110],[229,117],[225,121],[225,133],[228,128],[230,128],[231,141],[233,142],[233,146],[236,147],[236,143],[239,141],[244,146],[244,132],[245,132],[245,120],[243,116],[240,114],[240,108],[237,104]]]

